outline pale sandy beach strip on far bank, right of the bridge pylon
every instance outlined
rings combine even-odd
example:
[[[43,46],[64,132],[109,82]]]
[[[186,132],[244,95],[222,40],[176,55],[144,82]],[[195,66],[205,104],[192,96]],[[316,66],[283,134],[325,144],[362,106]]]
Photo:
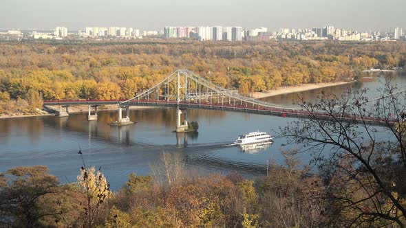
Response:
[[[271,90],[271,91],[266,91],[266,92],[255,92],[251,95],[251,97],[255,99],[259,98],[268,98],[272,97],[274,95],[281,95],[281,94],[287,94],[287,93],[297,93],[301,91],[308,91],[312,89],[319,89],[319,88],[325,88],[325,87],[334,87],[340,84],[349,84],[355,81],[351,82],[325,82],[325,83],[311,83],[311,84],[301,84],[297,87],[279,87],[278,89]]]

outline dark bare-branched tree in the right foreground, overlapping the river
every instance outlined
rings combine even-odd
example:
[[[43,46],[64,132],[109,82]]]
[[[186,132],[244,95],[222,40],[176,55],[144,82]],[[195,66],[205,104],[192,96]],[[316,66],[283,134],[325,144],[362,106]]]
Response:
[[[385,99],[377,103],[365,91],[322,93],[316,102],[301,101],[309,119],[283,130],[290,142],[303,145],[302,152],[315,156],[328,179],[321,198],[335,209],[332,216],[347,218],[342,225],[405,227],[406,108],[405,95],[395,91],[387,82],[381,90]],[[373,126],[376,122],[381,126]]]

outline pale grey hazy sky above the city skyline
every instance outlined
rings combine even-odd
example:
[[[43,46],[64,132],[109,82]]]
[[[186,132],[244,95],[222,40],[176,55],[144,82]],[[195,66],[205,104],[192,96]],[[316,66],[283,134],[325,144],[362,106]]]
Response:
[[[239,25],[354,30],[406,28],[406,0],[1,0],[0,28]]]

